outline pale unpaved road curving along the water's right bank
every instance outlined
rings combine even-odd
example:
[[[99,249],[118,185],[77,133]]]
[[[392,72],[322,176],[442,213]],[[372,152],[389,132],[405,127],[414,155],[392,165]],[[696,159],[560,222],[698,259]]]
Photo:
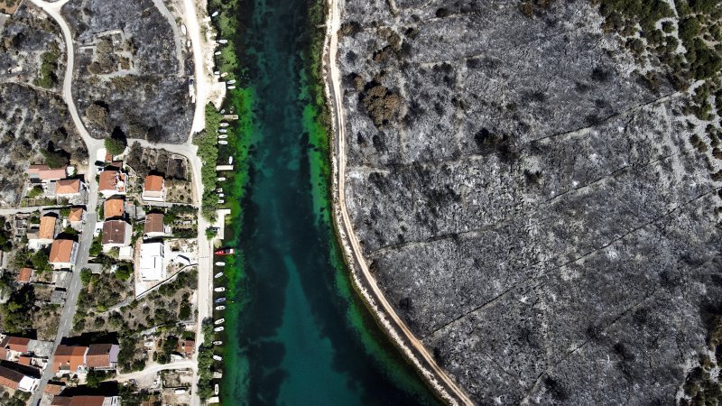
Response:
[[[406,324],[403,322],[402,318],[400,318],[396,311],[393,309],[393,306],[386,300],[384,296],[384,292],[381,291],[378,288],[378,285],[376,284],[374,275],[371,274],[371,272],[368,269],[368,265],[366,264],[366,259],[364,258],[363,251],[361,250],[361,245],[358,244],[358,238],[356,238],[356,234],[354,233],[354,228],[351,224],[351,219],[348,216],[347,206],[346,206],[346,124],[344,122],[344,111],[343,111],[343,103],[341,100],[341,91],[339,87],[339,78],[340,74],[338,72],[338,66],[337,66],[337,51],[338,51],[338,30],[340,28],[340,12],[338,9],[338,2],[339,0],[329,0],[329,8],[330,8],[330,15],[329,15],[329,23],[327,26],[327,29],[329,30],[327,32],[327,35],[330,36],[329,39],[329,48],[326,50],[328,51],[327,56],[329,57],[329,75],[327,78],[327,81],[330,80],[329,86],[329,94],[330,94],[330,102],[331,102],[331,109],[332,114],[334,115],[334,125],[336,127],[336,160],[338,162],[337,167],[337,180],[336,180],[336,192],[338,193],[338,207],[340,208],[340,224],[338,225],[342,229],[342,235],[346,235],[347,243],[350,245],[351,251],[353,253],[353,259],[358,265],[358,268],[361,270],[360,275],[363,277],[364,281],[366,282],[366,286],[370,288],[370,291],[367,293],[370,294],[370,296],[373,298],[376,304],[378,304],[382,311],[385,313],[386,320],[393,324],[393,329],[398,330],[402,333],[403,337],[398,337],[403,342],[404,346],[412,346],[415,350],[415,354],[419,355],[421,357],[421,360],[423,361],[421,363],[421,360],[415,359],[417,358],[415,355],[407,351],[407,355],[412,356],[412,360],[415,361],[417,364],[421,366],[421,368],[430,371],[431,377],[433,380],[436,380],[437,383],[440,383],[437,386],[437,389],[442,392],[442,395],[446,395],[446,400],[453,403],[458,404],[463,403],[467,405],[474,404],[471,399],[469,399],[466,392],[464,392],[458,385],[455,383],[450,377],[449,374],[444,371],[439,364],[436,364],[436,360],[434,360],[433,356],[430,355],[429,351],[426,349],[425,346],[423,346],[423,343],[415,337],[412,333],[412,331],[406,326]],[[393,336],[393,331],[390,331]],[[396,337],[394,337],[396,338]],[[428,376],[427,376],[428,378]],[[443,393],[446,392],[446,393]]]

